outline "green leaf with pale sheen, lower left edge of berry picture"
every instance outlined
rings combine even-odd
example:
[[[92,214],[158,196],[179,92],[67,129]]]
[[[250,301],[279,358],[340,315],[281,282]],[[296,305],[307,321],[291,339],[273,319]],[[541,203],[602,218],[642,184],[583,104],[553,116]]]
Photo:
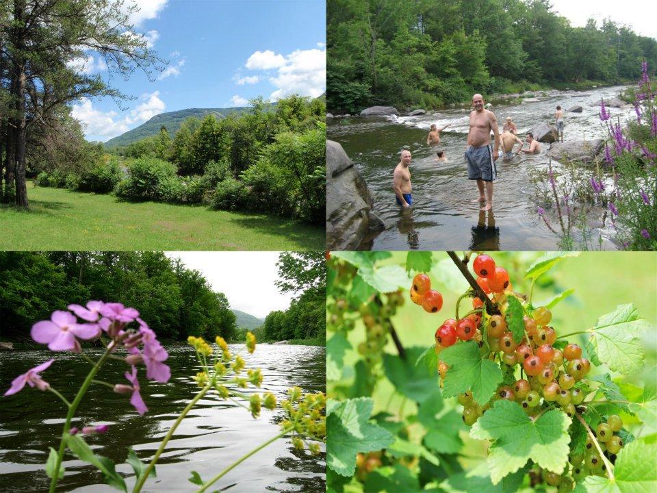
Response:
[[[339,475],[352,476],[356,454],[378,451],[394,442],[394,436],[372,424],[372,399],[350,399],[331,405],[327,416],[326,465]]]

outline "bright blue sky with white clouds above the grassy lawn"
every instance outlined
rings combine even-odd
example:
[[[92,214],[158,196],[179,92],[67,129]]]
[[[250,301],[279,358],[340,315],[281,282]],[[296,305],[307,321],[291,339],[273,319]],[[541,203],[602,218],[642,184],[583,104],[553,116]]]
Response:
[[[169,61],[151,82],[136,71],[112,84],[137,97],[122,111],[110,98],[83,99],[73,116],[88,140],[109,140],[163,112],[185,108],[248,105],[263,96],[317,97],[326,90],[324,0],[127,0],[140,5],[133,16],[157,54]],[[78,70],[107,69],[94,53]]]

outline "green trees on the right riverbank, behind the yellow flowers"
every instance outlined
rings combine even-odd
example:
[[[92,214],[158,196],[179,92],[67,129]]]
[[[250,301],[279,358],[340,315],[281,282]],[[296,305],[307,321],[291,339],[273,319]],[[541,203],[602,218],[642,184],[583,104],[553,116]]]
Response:
[[[326,260],[324,252],[279,255],[281,292],[298,293],[287,310],[270,312],[254,333],[258,340],[326,338]]]

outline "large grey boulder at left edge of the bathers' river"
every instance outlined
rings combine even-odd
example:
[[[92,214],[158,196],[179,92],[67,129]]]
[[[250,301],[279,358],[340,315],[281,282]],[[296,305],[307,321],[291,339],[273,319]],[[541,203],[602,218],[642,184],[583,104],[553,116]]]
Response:
[[[372,195],[342,145],[326,140],[326,248],[355,250],[384,229],[372,212]]]

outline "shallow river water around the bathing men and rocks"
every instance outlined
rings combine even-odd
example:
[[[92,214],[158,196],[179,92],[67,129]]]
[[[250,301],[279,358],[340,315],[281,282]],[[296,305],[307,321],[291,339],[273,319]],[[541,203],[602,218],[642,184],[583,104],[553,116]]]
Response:
[[[507,116],[517,125],[518,136],[534,125],[548,121],[554,125],[556,105],[567,110],[581,105],[582,113],[565,113],[564,140],[604,138],[601,125],[600,98],[616,97],[625,86],[593,88],[586,92],[552,91],[538,102],[500,103],[493,112],[500,130]],[[541,144],[543,153],[521,155],[508,162],[497,161],[498,180],[493,192],[493,211],[479,211],[475,181],[467,179],[465,150],[470,108],[455,108],[429,112],[422,116],[353,117],[329,120],[328,138],[342,144],[355,162],[374,197],[374,212],[385,223],[385,231],[362,248],[373,250],[554,250],[557,240],[537,214],[537,204],[531,200],[533,186],[530,171],[548,167],[550,144]],[[610,108],[614,119],[621,123],[634,115],[634,108]],[[448,162],[437,162],[435,150],[426,145],[431,123],[440,129],[441,149]],[[517,146],[517,144],[516,144]],[[392,191],[392,172],[399,162],[402,149],[413,155],[411,181],[413,207],[401,210]],[[527,149],[527,144],[525,145]],[[553,160],[554,166],[559,166]],[[608,240],[610,231],[602,234],[603,247],[614,249]]]

